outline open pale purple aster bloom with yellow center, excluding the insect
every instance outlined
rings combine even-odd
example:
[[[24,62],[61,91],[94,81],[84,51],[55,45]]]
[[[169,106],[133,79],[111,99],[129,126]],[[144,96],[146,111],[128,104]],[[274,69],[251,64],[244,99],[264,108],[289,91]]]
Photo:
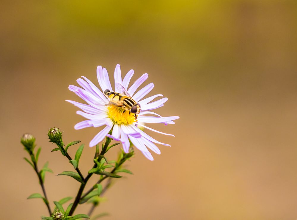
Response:
[[[74,126],[75,129],[82,129],[86,127],[100,127],[105,125],[103,130],[101,130],[97,135],[95,135],[95,137],[90,141],[90,147],[95,146],[100,141],[102,141],[105,136],[108,136],[116,141],[121,141],[124,152],[128,153],[130,147],[130,139],[133,145],[136,146],[136,148],[138,148],[144,154],[145,157],[147,157],[149,160],[153,160],[153,156],[147,148],[149,148],[156,154],[160,154],[161,152],[155,144],[162,144],[165,146],[170,145],[161,143],[152,138],[150,135],[147,135],[143,130],[137,127],[138,123],[148,130],[152,130],[154,132],[164,135],[174,136],[147,127],[146,125],[144,125],[144,123],[163,123],[165,125],[175,124],[173,120],[178,119],[179,117],[161,117],[161,115],[150,111],[164,106],[164,103],[168,100],[168,98],[161,98],[157,101],[153,101],[153,99],[157,97],[163,97],[163,95],[157,94],[142,99],[153,89],[154,84],[150,83],[144,86],[138,92],[136,92],[139,86],[147,79],[148,74],[143,74],[130,87],[128,87],[133,74],[134,71],[130,70],[125,75],[124,79],[122,79],[120,65],[117,64],[114,70],[115,89],[113,90],[111,87],[111,83],[109,81],[109,76],[106,68],[98,66],[97,78],[102,91],[97,86],[95,86],[89,79],[87,79],[84,76],[81,76],[83,79],[79,78],[76,81],[82,88],[70,85],[69,90],[73,91],[76,95],[78,95],[88,104],[78,103],[76,101],[71,100],[66,101],[82,109],[84,112],[77,111],[76,113],[87,118],[87,120],[77,123]],[[125,111],[125,109],[121,107],[114,105],[106,105],[109,103],[110,100],[102,92],[110,90],[114,91],[115,93],[122,93],[120,91],[118,84],[121,84],[122,87],[125,90],[127,90],[127,92],[130,94],[133,100],[140,104],[141,111],[137,115],[137,119],[134,116],[134,114],[129,114],[129,111]],[[147,114],[152,114],[155,116],[145,116]],[[111,129],[112,133],[110,135],[109,132],[111,131]]]

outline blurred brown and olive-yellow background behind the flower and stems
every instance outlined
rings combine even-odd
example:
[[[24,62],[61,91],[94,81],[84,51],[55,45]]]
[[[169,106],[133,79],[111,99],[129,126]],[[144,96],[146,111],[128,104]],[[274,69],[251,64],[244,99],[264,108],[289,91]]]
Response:
[[[42,146],[41,167],[72,170],[47,141],[86,144],[86,173],[100,128],[74,130],[83,120],[68,90],[96,67],[133,81],[147,72],[151,94],[169,101],[156,112],[175,125],[151,127],[160,146],[153,162],[139,151],[134,175],[117,180],[95,214],[105,219],[297,219],[296,1],[7,1],[0,7],[0,219],[40,219],[47,213],[20,137]],[[112,77],[111,77],[112,78]],[[145,84],[145,85],[146,85]],[[113,159],[120,146],[108,157]],[[70,149],[74,155],[76,147]],[[75,196],[79,183],[47,173],[49,199]],[[89,186],[96,182],[93,176]],[[89,187],[87,187],[89,188]],[[52,204],[53,206],[53,204]],[[89,204],[76,213],[87,213]]]

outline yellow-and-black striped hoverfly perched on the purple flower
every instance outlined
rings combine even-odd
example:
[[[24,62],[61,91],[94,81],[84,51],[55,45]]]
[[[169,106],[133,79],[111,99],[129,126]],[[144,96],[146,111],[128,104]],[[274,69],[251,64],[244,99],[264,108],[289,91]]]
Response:
[[[125,109],[123,113],[129,111],[129,115],[133,113],[135,119],[137,119],[137,114],[141,111],[140,104],[131,98],[131,95],[129,95],[127,90],[120,83],[117,83],[117,89],[120,91],[119,93],[108,89],[104,91],[104,95],[109,98],[109,103],[106,105],[121,107]]]

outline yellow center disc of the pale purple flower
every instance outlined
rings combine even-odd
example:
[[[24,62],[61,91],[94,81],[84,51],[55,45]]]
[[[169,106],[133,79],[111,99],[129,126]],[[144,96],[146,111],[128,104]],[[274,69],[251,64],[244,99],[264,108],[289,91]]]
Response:
[[[134,114],[129,115],[129,111],[117,106],[108,106],[108,116],[109,118],[119,125],[130,125],[136,122]]]

